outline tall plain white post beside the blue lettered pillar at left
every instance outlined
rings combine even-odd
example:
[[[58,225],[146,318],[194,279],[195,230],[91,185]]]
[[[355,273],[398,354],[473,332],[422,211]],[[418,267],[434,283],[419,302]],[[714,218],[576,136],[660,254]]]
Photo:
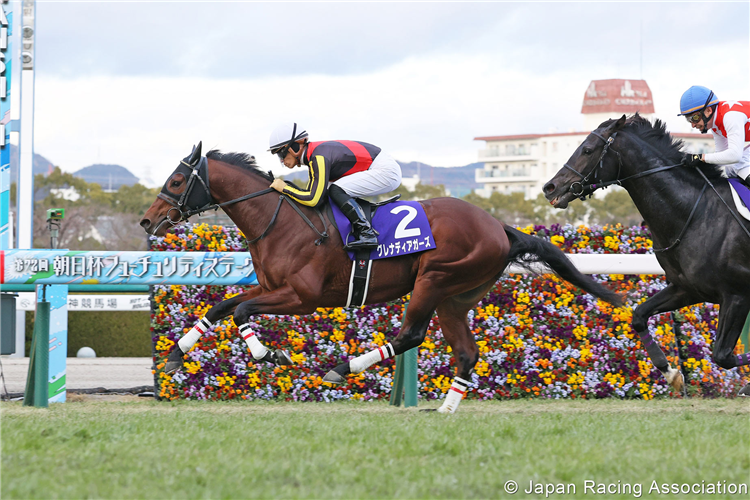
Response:
[[[35,0],[23,0],[18,248],[33,248],[34,235],[34,11]]]

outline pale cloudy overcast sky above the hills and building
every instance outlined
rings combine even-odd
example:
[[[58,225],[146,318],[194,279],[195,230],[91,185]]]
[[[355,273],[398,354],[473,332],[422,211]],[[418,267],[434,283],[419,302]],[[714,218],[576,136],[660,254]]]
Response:
[[[287,120],[460,166],[477,136],[582,130],[591,80],[645,79],[673,131],[690,85],[750,100],[746,1],[37,0],[36,18],[35,151],[156,184],[199,140],[280,173],[266,149]]]

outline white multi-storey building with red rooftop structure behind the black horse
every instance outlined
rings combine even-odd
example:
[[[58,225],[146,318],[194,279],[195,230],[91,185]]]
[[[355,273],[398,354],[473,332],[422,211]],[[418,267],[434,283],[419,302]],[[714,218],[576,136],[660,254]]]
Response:
[[[636,111],[644,118],[656,118],[651,89],[645,80],[593,80],[586,89],[581,106],[584,131],[475,137],[475,141],[485,142],[484,149],[479,151],[479,161],[484,166],[475,171],[475,180],[482,188],[476,193],[489,197],[494,192],[521,192],[526,198],[536,198],[544,183],[600,123]],[[713,151],[710,134],[672,135],[685,142],[686,151]]]

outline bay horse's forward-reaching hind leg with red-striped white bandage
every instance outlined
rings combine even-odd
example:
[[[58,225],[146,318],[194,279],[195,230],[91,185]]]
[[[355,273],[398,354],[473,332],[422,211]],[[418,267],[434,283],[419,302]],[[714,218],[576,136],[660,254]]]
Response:
[[[418,296],[417,289],[415,288],[414,292],[412,292],[412,300],[406,309],[401,330],[393,342],[373,349],[346,363],[341,363],[326,373],[325,377],[323,377],[323,382],[343,384],[346,382],[346,376],[351,373],[360,373],[375,363],[380,363],[409,349],[418,347],[424,341],[427,327],[430,325],[430,319],[435,311],[434,305],[431,306],[432,302]]]

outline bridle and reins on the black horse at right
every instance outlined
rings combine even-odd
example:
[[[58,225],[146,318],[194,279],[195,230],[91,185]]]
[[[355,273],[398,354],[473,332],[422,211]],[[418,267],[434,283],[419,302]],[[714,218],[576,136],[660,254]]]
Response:
[[[570,191],[576,198],[580,199],[581,201],[585,200],[586,196],[591,197],[593,195],[594,191],[596,191],[597,189],[606,188],[606,187],[612,186],[614,184],[617,184],[618,186],[622,186],[622,183],[625,182],[625,181],[629,181],[629,180],[633,180],[633,179],[638,179],[638,178],[641,178],[641,177],[645,177],[647,175],[656,174],[656,173],[659,173],[659,172],[664,172],[665,170],[670,170],[670,169],[673,169],[675,167],[684,166],[684,163],[677,163],[675,165],[663,165],[661,167],[652,168],[650,170],[646,170],[645,172],[639,172],[637,174],[629,175],[628,177],[620,179],[619,178],[620,177],[620,172],[622,171],[622,156],[620,155],[619,152],[617,152],[616,150],[612,149],[611,151],[617,155],[617,162],[618,162],[617,178],[615,180],[613,180],[613,181],[605,181],[605,182],[601,182],[601,183],[598,183],[598,184],[590,183],[589,182],[589,177],[591,177],[593,175],[594,176],[594,180],[596,180],[599,177],[599,171],[604,169],[604,156],[607,154],[607,151],[610,151],[610,146],[615,141],[615,137],[617,136],[617,132],[615,132],[611,136],[609,136],[608,139],[605,139],[604,137],[602,137],[600,134],[598,134],[596,132],[591,132],[591,135],[596,136],[599,139],[601,139],[602,141],[604,141],[604,148],[602,149],[602,154],[599,156],[599,160],[597,160],[598,165],[595,166],[591,170],[591,172],[589,172],[586,176],[584,176],[582,173],[580,173],[578,170],[574,169],[573,167],[571,167],[567,163],[563,164],[564,168],[567,168],[568,170],[570,170],[572,172],[575,172],[576,175],[578,175],[579,177],[581,177],[580,181],[576,181],[576,182],[572,183],[570,185],[570,188],[568,188],[568,191]],[[711,181],[708,180],[708,177],[706,177],[706,174],[704,174],[703,171],[700,168],[698,168],[698,167],[694,167],[694,168],[698,171],[699,174],[701,174],[701,177],[703,177],[703,180],[704,180],[703,189],[701,189],[701,192],[698,195],[698,199],[695,200],[695,204],[693,205],[692,210],[690,210],[690,215],[688,215],[688,219],[685,222],[685,225],[683,226],[682,231],[680,231],[679,236],[677,236],[677,238],[669,246],[666,246],[664,248],[654,248],[654,252],[666,252],[667,250],[671,250],[671,249],[673,249],[674,247],[676,247],[677,245],[680,244],[680,242],[682,241],[682,237],[685,236],[685,231],[687,231],[688,226],[690,226],[690,223],[693,220],[693,216],[695,215],[695,212],[696,212],[696,210],[698,208],[698,204],[700,203],[701,199],[703,198],[703,194],[706,192],[706,188],[708,186],[711,186],[711,189],[714,191],[714,193],[716,193],[716,196],[719,197],[719,199],[721,200],[721,202],[724,204],[724,206],[727,208],[727,210],[729,210],[729,213],[732,214],[732,217],[734,217],[734,219],[740,225],[740,227],[745,232],[745,234],[747,235],[747,237],[750,238],[750,231],[748,231],[748,229],[742,223],[742,221],[740,220],[740,216],[734,210],[732,210],[732,207],[730,207],[729,204],[727,204],[727,202],[724,200],[724,198],[721,197],[721,195],[719,194],[719,192],[716,190],[716,187],[714,187],[714,185],[711,183]],[[575,187],[576,184],[580,187],[580,190]]]

